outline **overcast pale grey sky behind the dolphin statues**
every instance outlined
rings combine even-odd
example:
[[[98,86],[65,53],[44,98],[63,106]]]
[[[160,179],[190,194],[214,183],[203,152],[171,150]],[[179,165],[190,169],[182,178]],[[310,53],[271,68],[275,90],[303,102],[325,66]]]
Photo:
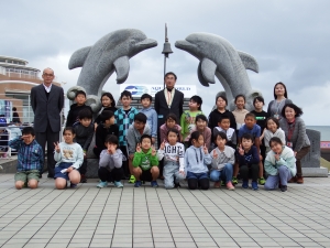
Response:
[[[178,75],[177,84],[198,87],[208,115],[217,79],[206,88],[197,77],[198,60],[174,46],[195,32],[227,39],[237,50],[253,55],[260,73],[249,72],[253,89],[266,103],[273,99],[275,83],[283,82],[288,98],[304,110],[307,125],[330,125],[330,1],[304,0],[140,0],[140,1],[6,1],[1,4],[0,54],[25,58],[30,66],[52,67],[65,89],[76,85],[80,68],[68,69],[78,48],[95,44],[119,29],[139,29],[158,46],[130,60],[127,83],[163,85],[164,24],[174,53],[167,71]],[[116,84],[116,74],[105,90]],[[119,90],[110,91],[118,99]]]

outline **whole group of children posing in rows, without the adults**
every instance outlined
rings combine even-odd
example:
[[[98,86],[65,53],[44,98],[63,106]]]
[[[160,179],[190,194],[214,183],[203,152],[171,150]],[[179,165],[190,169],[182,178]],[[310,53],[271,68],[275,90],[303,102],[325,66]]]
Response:
[[[152,96],[142,95],[140,111],[131,107],[130,91],[122,91],[120,100],[122,107],[116,109],[112,95],[105,93],[102,109],[92,123],[91,109],[85,105],[86,94],[76,93],[76,104],[68,112],[63,131],[64,141],[54,143],[56,188],[65,188],[67,181],[70,187],[87,182],[86,153],[94,136],[92,151],[99,158],[98,187],[106,187],[109,182],[122,187],[122,179],[130,179],[135,187],[145,181],[157,187],[157,179],[164,176],[165,188],[178,187],[186,180],[190,190],[208,190],[209,181],[215,182],[215,187],[223,185],[234,190],[240,175],[243,188],[249,187],[249,179],[252,179],[253,190],[265,184],[266,190],[279,185],[284,192],[287,181],[295,175],[294,152],[284,145],[285,136],[278,119],[263,111],[262,97],[254,99],[255,110],[249,112],[244,109],[245,97],[239,95],[237,109],[230,112],[226,109],[227,98],[219,96],[217,108],[207,119],[201,111],[201,98],[193,96],[189,110],[182,117],[169,114],[160,127],[157,112],[151,107]],[[34,188],[43,153],[33,139],[33,128],[24,128],[22,133],[9,144],[19,151],[15,186],[22,188],[28,183]],[[155,148],[157,136],[158,150]]]

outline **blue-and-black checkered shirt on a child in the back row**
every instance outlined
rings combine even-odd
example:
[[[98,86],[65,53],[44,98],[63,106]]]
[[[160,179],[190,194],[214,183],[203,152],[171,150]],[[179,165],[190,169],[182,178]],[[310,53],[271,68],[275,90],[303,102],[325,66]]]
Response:
[[[138,114],[138,109],[132,107],[129,114],[120,108],[114,112],[116,123],[119,127],[119,145],[127,145],[127,133],[130,125],[134,121],[134,116]]]

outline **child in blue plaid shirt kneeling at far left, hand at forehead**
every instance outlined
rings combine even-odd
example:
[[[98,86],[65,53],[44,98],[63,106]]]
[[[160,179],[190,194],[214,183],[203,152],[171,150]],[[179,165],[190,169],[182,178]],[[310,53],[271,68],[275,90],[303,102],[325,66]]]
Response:
[[[34,129],[26,127],[22,130],[22,137],[9,141],[9,147],[18,150],[18,172],[14,176],[18,190],[24,185],[37,187],[44,157],[42,147],[34,138]]]

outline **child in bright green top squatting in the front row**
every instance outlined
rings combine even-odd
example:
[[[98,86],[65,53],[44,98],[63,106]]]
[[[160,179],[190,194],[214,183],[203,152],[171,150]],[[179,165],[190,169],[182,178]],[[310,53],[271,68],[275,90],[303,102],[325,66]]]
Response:
[[[133,175],[136,181],[134,187],[141,187],[141,181],[151,182],[152,187],[157,187],[157,177],[160,175],[158,160],[156,150],[152,148],[152,137],[143,134],[141,144],[136,147],[136,152],[133,159]]]

